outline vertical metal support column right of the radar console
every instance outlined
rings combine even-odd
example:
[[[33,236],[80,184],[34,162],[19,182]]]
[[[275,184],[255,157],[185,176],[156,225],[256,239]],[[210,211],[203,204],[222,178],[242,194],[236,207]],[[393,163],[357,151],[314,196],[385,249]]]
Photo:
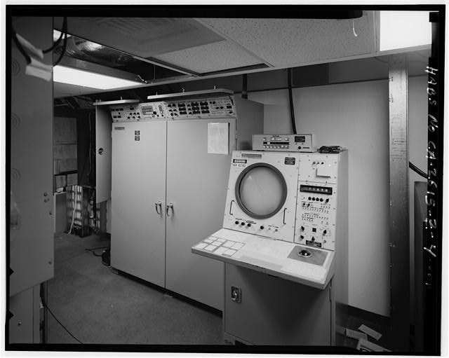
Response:
[[[406,55],[389,59],[390,316],[395,351],[410,348],[408,226],[408,69]]]

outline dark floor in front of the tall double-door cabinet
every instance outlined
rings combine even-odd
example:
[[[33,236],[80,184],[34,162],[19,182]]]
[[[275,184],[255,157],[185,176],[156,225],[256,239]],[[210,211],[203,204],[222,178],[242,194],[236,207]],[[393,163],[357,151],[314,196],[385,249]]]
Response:
[[[55,236],[47,305],[76,338],[108,345],[222,344],[221,312],[118,275],[86,251],[107,245],[97,236]],[[50,314],[47,327],[47,343],[78,343]]]

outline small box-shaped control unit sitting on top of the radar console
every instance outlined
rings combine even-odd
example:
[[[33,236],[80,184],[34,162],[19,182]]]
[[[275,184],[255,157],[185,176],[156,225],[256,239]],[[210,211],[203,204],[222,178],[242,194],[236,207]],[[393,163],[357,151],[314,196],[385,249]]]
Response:
[[[254,151],[294,151],[312,153],[316,151],[315,135],[253,135]]]

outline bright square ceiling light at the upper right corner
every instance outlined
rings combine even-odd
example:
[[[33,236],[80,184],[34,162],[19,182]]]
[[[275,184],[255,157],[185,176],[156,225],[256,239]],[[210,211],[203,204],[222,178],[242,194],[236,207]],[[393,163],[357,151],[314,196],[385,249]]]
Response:
[[[380,11],[380,50],[429,45],[429,11]]]

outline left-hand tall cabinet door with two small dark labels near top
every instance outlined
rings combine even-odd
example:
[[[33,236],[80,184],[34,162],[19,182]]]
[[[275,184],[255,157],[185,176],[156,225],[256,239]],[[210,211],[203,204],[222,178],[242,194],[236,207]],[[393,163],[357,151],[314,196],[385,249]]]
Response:
[[[113,123],[111,264],[162,287],[165,194],[166,122]]]

